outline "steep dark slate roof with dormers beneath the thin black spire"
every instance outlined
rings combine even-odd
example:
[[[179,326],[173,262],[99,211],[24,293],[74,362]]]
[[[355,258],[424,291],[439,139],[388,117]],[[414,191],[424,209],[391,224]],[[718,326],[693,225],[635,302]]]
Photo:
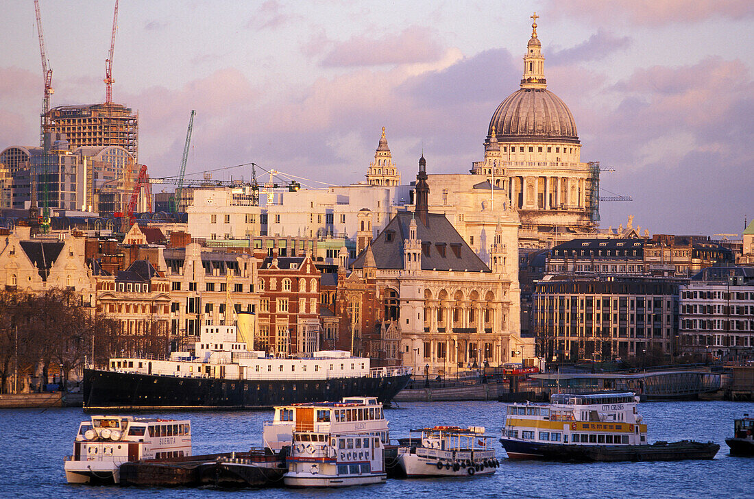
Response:
[[[388,223],[371,243],[372,255],[377,268],[402,269],[403,268],[403,240],[409,238],[409,224],[413,213],[403,211]],[[445,215],[441,213],[428,213],[428,225],[416,220],[416,237],[421,240],[421,270],[431,271],[470,271],[489,272],[489,267],[474,253],[474,250],[458,234]],[[441,247],[445,249],[445,256],[441,253]],[[454,248],[458,249],[455,256]],[[429,251],[429,255],[427,254]],[[366,251],[362,251],[354,268],[363,268],[366,261]]]

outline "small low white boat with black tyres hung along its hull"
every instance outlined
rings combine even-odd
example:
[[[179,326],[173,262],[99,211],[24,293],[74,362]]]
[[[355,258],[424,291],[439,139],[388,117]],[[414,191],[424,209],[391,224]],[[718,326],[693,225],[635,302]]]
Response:
[[[401,439],[398,448],[398,464],[409,478],[492,475],[500,465],[484,427],[436,426],[411,433],[421,436]]]

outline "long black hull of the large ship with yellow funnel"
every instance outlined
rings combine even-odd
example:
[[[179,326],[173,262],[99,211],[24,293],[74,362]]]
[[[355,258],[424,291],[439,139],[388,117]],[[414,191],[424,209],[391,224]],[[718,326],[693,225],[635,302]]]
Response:
[[[84,410],[268,409],[293,403],[376,396],[403,390],[410,375],[322,380],[179,378],[84,369]]]

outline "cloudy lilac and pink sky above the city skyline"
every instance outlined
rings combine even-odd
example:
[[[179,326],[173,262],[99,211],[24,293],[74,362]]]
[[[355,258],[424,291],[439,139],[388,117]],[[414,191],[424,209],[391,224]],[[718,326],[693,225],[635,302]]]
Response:
[[[31,0],[0,17],[0,150],[37,145],[44,80]],[[40,0],[51,106],[104,100],[113,1]],[[305,185],[364,179],[382,127],[403,182],[483,158],[536,11],[548,90],[600,161],[601,225],[740,234],[754,218],[754,2],[122,0],[113,100],[139,112],[139,162],[254,162]],[[261,170],[257,170],[260,175]],[[250,176],[248,167],[213,178]],[[156,187],[156,186],[155,186]],[[159,190],[159,189],[155,189]]]

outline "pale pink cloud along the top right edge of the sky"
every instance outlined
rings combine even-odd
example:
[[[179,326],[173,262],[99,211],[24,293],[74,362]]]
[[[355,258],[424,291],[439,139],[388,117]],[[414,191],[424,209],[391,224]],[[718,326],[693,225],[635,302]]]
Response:
[[[650,26],[696,23],[713,16],[732,19],[754,16],[754,3],[750,0],[550,0],[549,3],[548,11],[552,14],[588,16],[605,23],[626,17],[633,23]]]

